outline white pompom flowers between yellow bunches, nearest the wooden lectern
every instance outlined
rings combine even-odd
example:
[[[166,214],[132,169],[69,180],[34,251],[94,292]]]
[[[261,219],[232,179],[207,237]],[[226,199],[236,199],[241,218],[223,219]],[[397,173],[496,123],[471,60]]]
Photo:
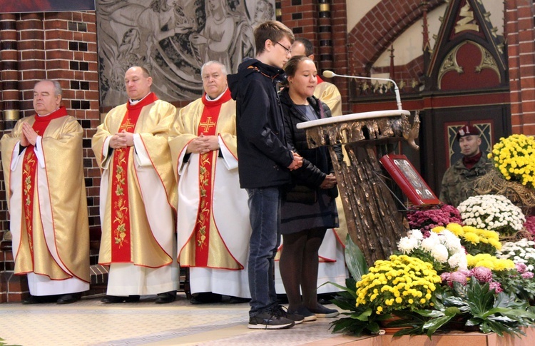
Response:
[[[423,234],[420,230],[409,230],[407,237],[399,240],[397,248],[404,255],[432,263],[437,273],[467,269],[467,256],[461,240],[447,229]]]

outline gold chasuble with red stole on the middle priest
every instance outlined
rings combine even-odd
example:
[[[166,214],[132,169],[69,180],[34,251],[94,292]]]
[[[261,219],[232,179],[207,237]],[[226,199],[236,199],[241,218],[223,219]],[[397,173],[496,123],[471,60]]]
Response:
[[[175,112],[173,105],[149,93],[135,105],[113,108],[93,136],[93,152],[103,170],[98,258],[103,265],[161,268],[174,260],[169,237],[175,227],[176,183],[167,142]],[[111,148],[111,136],[122,131],[134,133],[134,146]],[[163,209],[169,220],[163,220]]]

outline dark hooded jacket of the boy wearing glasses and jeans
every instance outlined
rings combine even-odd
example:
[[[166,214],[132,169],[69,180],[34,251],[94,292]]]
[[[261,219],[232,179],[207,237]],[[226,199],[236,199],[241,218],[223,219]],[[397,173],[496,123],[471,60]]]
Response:
[[[282,109],[276,84],[284,71],[253,58],[245,58],[238,73],[227,76],[236,100],[238,173],[242,188],[268,188],[291,182],[293,161],[287,148]]]

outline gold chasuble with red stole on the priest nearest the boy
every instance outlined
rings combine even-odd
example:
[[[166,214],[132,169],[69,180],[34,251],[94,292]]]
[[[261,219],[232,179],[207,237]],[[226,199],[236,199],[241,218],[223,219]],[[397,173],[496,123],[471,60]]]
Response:
[[[185,154],[188,143],[201,135],[218,136],[220,149]],[[182,108],[170,132],[169,146],[175,173],[180,175],[180,266],[243,269],[250,225],[247,197],[238,185],[235,101],[230,91],[213,101],[203,96]],[[230,167],[230,161],[235,166]]]

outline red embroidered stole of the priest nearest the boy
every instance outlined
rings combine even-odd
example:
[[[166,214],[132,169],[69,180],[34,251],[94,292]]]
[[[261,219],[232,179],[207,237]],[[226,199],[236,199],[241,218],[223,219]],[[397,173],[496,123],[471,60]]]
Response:
[[[215,136],[215,127],[221,105],[230,101],[230,90],[227,88],[223,96],[216,101],[209,101],[203,95],[203,114],[200,116],[197,136]],[[208,267],[208,244],[210,243],[210,219],[212,215],[213,160],[217,158],[214,152],[199,156],[199,209],[197,223],[195,223],[195,267]]]

